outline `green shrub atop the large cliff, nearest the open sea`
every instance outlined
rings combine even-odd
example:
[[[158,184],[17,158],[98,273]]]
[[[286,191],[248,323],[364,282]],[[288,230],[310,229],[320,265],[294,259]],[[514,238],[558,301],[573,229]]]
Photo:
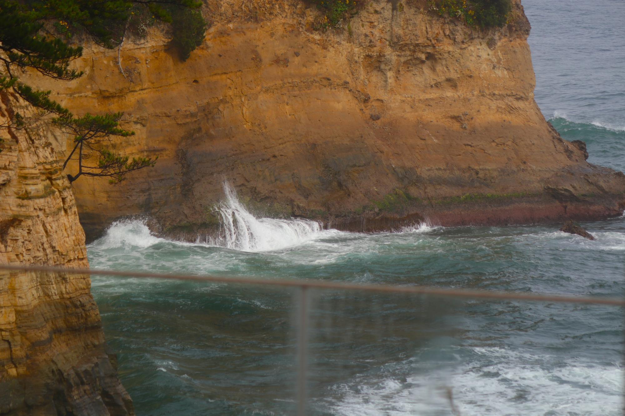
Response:
[[[463,19],[469,26],[503,27],[512,10],[511,0],[429,0],[429,10]]]

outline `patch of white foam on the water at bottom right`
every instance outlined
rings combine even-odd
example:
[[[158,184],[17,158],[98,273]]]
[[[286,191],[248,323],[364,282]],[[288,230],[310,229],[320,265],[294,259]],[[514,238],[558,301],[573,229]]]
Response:
[[[345,416],[440,415],[451,414],[453,403],[463,416],[622,414],[623,372],[617,364],[576,361],[557,367],[557,357],[500,348],[476,348],[474,352],[476,362],[453,372],[336,385],[333,390],[341,399],[330,405],[332,412]]]

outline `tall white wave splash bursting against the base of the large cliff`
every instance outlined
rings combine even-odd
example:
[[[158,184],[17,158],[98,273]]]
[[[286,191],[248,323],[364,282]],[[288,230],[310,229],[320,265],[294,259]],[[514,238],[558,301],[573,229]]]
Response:
[[[209,245],[261,252],[302,244],[322,233],[321,224],[316,221],[254,217],[227,182],[224,182],[224,194],[225,199],[216,207],[221,230],[217,237],[206,239]]]

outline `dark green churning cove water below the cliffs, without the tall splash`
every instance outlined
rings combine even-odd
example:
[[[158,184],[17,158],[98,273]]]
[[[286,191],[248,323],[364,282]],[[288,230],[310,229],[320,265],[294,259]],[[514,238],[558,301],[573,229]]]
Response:
[[[612,296],[623,290],[624,221],[585,223],[594,242],[556,225],[322,230],[288,250],[256,253],[167,240],[130,247],[133,237],[121,235],[91,244],[89,261],[118,270]],[[108,232],[146,229],[119,222]],[[113,240],[123,245],[99,249]],[[143,409],[293,414],[290,294],[100,276],[93,293],[109,339],[124,351],[123,381]],[[620,414],[621,310],[463,300],[443,305],[457,320],[441,320],[430,309],[440,301],[425,301],[320,293],[311,308],[311,412],[451,414],[442,386],[462,415]],[[449,336],[456,328],[457,344]],[[155,397],[155,389],[163,393]]]

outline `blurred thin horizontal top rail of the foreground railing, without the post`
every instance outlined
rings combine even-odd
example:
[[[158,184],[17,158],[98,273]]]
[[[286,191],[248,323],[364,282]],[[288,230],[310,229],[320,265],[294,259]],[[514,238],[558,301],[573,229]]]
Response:
[[[625,306],[624,298],[603,297],[573,297],[561,295],[534,295],[524,293],[499,292],[496,290],[446,289],[434,286],[414,285],[380,285],[354,284],[341,282],[325,282],[323,280],[294,280],[294,279],[255,279],[252,277],[221,277],[192,274],[158,274],[146,272],[124,272],[119,270],[100,269],[69,269],[68,267],[52,267],[38,265],[0,265],[0,270],[25,272],[50,272],[66,274],[108,275],[119,277],[140,277],[151,279],[192,280],[195,282],[216,282],[250,285],[270,285],[281,287],[296,287],[299,289],[331,289],[331,290],[360,290],[364,292],[380,292],[412,295],[431,295],[436,297],[456,297],[487,300],[524,300],[531,302],[566,302],[574,304],[597,304]]]

